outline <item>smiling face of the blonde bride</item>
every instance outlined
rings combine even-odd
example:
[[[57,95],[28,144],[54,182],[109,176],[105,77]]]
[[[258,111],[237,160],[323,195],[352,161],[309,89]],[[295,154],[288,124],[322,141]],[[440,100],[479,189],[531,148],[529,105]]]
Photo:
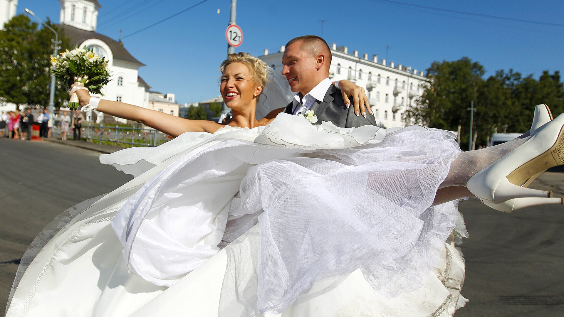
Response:
[[[262,86],[255,85],[249,67],[233,62],[223,70],[219,90],[228,108],[243,110],[255,102]]]

